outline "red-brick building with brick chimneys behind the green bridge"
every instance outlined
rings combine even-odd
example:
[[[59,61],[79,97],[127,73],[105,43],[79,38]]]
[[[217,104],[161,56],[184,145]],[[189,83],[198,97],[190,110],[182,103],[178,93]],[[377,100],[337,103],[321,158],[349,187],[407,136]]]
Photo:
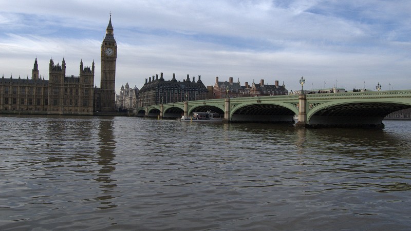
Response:
[[[241,86],[240,82],[233,82],[233,78],[229,78],[229,82],[218,81],[218,76],[215,78],[215,84],[213,87],[213,98],[220,99],[235,98],[235,97],[253,97],[253,96],[264,96],[264,95],[286,95],[288,90],[283,85],[278,85],[278,81],[275,81],[275,85],[265,84],[264,80],[260,80],[259,84],[252,83],[249,85],[248,82],[245,86]]]

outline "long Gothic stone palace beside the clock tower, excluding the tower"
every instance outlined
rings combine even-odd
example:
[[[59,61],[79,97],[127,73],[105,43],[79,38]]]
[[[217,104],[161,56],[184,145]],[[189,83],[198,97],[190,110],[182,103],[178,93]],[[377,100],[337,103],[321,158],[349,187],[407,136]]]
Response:
[[[66,76],[66,62],[49,63],[49,80],[39,76],[37,59],[29,80],[0,79],[0,112],[45,114],[93,114],[94,62],[83,67],[79,76]]]

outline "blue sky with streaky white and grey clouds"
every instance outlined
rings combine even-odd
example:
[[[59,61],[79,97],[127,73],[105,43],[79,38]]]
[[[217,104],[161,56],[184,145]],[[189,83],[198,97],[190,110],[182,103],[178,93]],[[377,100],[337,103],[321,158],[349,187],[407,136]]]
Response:
[[[109,15],[118,45],[116,92],[149,76],[201,75],[274,84],[288,90],[344,87],[411,89],[409,0],[0,0],[0,74],[31,77],[37,57],[79,75],[95,61]]]

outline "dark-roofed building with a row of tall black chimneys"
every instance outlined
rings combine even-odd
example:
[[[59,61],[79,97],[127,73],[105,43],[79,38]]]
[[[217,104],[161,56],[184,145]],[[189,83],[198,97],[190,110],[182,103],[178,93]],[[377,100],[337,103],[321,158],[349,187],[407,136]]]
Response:
[[[201,81],[201,76],[198,75],[198,80],[190,81],[190,76],[184,81],[177,81],[176,74],[173,74],[173,79],[165,81],[163,73],[156,79],[150,77],[145,79],[144,86],[141,87],[138,94],[138,106],[144,107],[156,104],[166,104],[182,102],[185,100],[205,100],[207,99],[207,88]]]

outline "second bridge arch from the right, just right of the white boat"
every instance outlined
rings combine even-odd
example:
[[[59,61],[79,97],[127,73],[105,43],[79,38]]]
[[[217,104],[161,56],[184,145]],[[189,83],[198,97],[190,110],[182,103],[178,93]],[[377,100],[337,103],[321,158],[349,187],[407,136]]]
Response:
[[[231,122],[293,123],[293,115],[298,108],[281,102],[249,102],[234,106],[230,113]]]

